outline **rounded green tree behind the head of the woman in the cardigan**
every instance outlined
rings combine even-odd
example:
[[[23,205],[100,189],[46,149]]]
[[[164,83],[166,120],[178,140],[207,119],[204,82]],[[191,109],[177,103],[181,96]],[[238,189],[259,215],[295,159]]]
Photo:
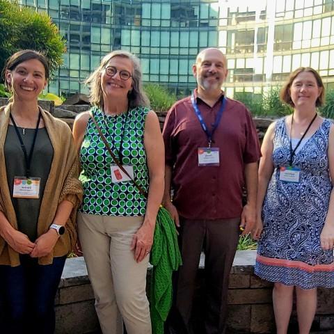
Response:
[[[50,72],[63,63],[65,40],[46,13],[0,0],[0,69],[6,59],[21,49],[42,52],[49,59]],[[0,82],[3,82],[1,77]]]

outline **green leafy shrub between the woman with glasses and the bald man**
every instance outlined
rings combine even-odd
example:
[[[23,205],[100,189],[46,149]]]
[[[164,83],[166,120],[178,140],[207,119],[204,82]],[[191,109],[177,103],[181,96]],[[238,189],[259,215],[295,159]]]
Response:
[[[150,99],[150,106],[154,111],[168,111],[177,101],[174,93],[170,93],[167,88],[159,86],[159,84],[146,84],[144,90]]]

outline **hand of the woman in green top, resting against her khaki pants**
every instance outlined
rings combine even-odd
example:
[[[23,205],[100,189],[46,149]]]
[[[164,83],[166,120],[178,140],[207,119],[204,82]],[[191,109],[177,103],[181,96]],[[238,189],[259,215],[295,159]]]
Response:
[[[134,234],[131,249],[134,250],[134,260],[141,262],[151,251],[153,244],[154,227],[150,224],[141,225],[141,228]]]

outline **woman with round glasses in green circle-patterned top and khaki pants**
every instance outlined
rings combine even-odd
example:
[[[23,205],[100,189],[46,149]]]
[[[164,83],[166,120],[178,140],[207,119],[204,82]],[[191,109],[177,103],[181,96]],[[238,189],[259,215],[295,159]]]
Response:
[[[148,109],[141,68],[133,54],[113,51],[86,81],[93,108],[77,116],[84,200],[78,231],[104,334],[150,334],[145,293],[154,225],[164,191],[164,143]],[[102,140],[146,192],[122,172]]]

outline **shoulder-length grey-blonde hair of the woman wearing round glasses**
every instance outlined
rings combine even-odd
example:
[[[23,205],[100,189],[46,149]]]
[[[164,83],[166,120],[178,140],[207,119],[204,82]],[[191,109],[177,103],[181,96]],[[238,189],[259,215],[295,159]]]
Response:
[[[99,108],[103,107],[101,72],[102,70],[104,70],[111,58],[114,57],[127,58],[132,61],[132,66],[134,68],[132,73],[132,90],[129,91],[127,96],[129,100],[129,108],[131,109],[136,106],[149,106],[150,100],[148,100],[148,97],[143,90],[143,84],[141,81],[142,72],[139,59],[134,56],[134,54],[122,50],[112,51],[110,54],[104,56],[104,58],[102,58],[100,66],[97,67],[97,69],[86,79],[85,84],[88,84],[88,86],[90,87],[90,103],[98,106]]]

